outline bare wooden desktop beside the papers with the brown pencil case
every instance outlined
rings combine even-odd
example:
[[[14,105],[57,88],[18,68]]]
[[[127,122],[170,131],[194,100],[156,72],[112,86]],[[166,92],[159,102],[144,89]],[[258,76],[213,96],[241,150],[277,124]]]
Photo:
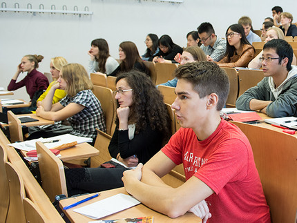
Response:
[[[21,154],[26,157],[27,151],[21,151]],[[95,155],[99,155],[99,151],[97,148],[94,148],[90,144],[84,142],[82,144],[77,144],[71,148],[67,148],[61,150],[61,157],[59,157],[62,161],[66,162],[73,159],[82,159],[93,157]]]

